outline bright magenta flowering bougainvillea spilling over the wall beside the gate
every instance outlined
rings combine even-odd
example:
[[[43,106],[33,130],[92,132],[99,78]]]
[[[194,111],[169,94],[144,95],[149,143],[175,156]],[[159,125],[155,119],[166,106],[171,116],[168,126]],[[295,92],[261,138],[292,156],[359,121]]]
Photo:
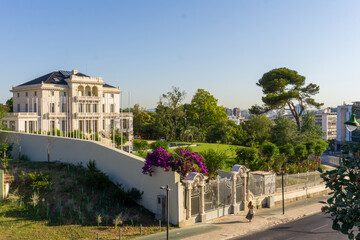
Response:
[[[175,171],[185,178],[189,172],[207,174],[208,170],[204,159],[198,152],[190,152],[189,149],[178,148],[175,153],[159,148],[146,156],[145,165],[142,168],[143,174],[152,176],[152,167],[161,167],[165,171]]]

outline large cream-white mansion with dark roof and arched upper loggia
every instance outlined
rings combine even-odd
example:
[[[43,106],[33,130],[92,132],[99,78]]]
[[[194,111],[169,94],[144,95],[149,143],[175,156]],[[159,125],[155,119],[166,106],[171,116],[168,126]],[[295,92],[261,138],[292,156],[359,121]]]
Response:
[[[56,71],[13,86],[13,112],[3,120],[14,131],[98,133],[119,129],[132,139],[132,114],[120,113],[119,88],[73,71]],[[80,131],[79,131],[80,130]]]

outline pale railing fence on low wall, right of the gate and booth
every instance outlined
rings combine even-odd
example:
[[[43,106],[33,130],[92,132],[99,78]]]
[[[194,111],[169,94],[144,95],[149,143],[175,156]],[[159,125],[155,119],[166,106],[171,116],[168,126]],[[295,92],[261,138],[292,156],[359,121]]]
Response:
[[[281,175],[276,176],[276,192],[281,192]],[[307,189],[322,184],[323,179],[319,172],[284,174],[284,191]]]

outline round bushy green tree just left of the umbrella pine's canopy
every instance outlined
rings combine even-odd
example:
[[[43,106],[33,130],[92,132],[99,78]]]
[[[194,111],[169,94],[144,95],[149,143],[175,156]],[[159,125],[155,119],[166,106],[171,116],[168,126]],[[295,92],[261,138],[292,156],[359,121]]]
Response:
[[[273,123],[265,115],[254,116],[244,124],[244,130],[247,132],[248,146],[258,146],[270,138],[270,130]]]

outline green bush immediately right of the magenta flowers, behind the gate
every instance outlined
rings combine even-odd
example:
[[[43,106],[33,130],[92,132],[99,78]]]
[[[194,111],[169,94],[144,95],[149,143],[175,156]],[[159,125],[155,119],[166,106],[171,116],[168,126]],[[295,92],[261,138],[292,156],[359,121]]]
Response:
[[[218,171],[225,166],[226,153],[214,149],[208,149],[200,152],[204,158],[205,165],[209,171],[209,178],[214,178],[218,175]]]

